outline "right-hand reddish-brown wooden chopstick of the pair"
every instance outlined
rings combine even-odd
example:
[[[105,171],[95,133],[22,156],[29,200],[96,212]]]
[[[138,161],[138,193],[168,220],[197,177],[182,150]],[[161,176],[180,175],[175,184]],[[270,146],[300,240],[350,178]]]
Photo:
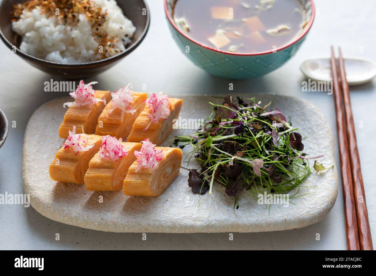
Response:
[[[352,169],[353,191],[356,207],[356,216],[358,221],[360,248],[361,250],[373,250],[370,223],[368,222],[367,205],[365,204],[363,176],[360,168],[358,147],[356,146],[355,127],[350,101],[350,89],[349,84],[346,80],[346,71],[341,53],[341,47],[339,48],[338,65],[340,67],[343,105],[345,109],[347,123],[347,140],[349,142],[349,154]]]

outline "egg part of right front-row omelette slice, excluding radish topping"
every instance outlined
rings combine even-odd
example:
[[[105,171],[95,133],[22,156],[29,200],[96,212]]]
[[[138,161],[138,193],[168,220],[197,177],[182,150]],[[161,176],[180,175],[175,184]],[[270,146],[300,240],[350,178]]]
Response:
[[[182,151],[178,148],[155,147],[163,157],[156,169],[138,169],[137,160],[128,169],[124,179],[123,193],[127,196],[159,196],[179,175]]]

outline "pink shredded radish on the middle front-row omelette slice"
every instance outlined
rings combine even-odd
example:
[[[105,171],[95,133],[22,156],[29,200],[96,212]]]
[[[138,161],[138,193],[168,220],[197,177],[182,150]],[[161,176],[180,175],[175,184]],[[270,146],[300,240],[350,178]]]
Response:
[[[121,141],[123,141],[123,138],[117,140],[116,137],[109,135],[102,136],[102,146],[99,149],[98,159],[116,161],[123,156],[127,156],[128,152],[125,151]]]

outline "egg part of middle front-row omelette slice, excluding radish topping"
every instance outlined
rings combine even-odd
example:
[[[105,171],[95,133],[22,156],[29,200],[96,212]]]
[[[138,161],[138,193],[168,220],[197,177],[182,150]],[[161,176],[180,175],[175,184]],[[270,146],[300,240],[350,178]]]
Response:
[[[123,181],[128,168],[136,160],[134,151],[141,149],[141,143],[121,142],[126,156],[111,161],[99,158],[97,152],[89,162],[85,173],[85,187],[90,191],[118,191],[123,187]]]

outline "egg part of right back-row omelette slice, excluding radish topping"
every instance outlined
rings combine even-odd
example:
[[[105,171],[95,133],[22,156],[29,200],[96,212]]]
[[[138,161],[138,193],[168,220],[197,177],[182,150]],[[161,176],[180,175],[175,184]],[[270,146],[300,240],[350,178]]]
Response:
[[[140,142],[149,139],[152,143],[161,145],[172,131],[173,120],[179,117],[180,109],[183,105],[182,99],[170,99],[170,115],[167,119],[159,119],[158,122],[151,122],[149,116],[149,106],[146,105],[144,110],[133,124],[132,131],[128,136],[128,142]]]

